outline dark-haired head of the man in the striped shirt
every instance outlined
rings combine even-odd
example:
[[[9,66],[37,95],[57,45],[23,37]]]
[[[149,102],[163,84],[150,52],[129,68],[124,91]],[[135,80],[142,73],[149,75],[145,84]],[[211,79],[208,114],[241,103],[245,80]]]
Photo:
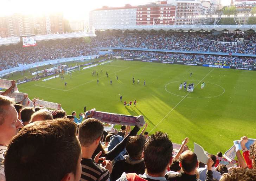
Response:
[[[94,118],[83,121],[78,130],[78,139],[82,147],[91,148],[94,152],[103,134],[103,124]],[[92,152],[92,153],[93,153]]]

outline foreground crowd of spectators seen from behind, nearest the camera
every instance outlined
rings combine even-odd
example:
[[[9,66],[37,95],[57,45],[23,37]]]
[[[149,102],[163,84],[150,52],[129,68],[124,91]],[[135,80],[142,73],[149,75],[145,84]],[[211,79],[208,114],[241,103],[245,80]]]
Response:
[[[174,150],[172,134],[148,135],[147,123],[105,130],[94,111],[24,107],[8,97],[14,87],[0,95],[0,181],[256,180],[256,142],[248,149],[247,136],[236,167],[221,164],[221,152],[203,162],[188,149],[189,138]]]

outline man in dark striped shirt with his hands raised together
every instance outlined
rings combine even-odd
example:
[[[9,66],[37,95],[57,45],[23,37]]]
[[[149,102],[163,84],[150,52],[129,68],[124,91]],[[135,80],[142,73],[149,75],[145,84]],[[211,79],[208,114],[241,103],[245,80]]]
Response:
[[[103,124],[94,118],[83,121],[78,130],[78,139],[82,147],[82,175],[80,181],[108,181],[112,172],[112,163],[103,160],[98,164],[101,152],[92,160],[92,154],[100,144],[103,134]]]

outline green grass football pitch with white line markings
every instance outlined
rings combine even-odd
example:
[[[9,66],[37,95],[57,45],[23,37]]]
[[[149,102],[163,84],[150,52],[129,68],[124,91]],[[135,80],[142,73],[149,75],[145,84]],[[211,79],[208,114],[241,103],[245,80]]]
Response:
[[[101,69],[99,77],[92,76],[93,70]],[[139,85],[132,85],[133,76],[140,80]],[[148,132],[167,132],[174,143],[189,137],[190,148],[196,142],[213,154],[225,152],[241,136],[255,138],[255,71],[114,60],[64,78],[28,82],[18,88],[31,99],[62,104],[68,114],[83,112],[86,105],[87,109],[143,115]],[[194,92],[179,91],[184,81],[195,83]],[[64,82],[68,83],[66,88]],[[137,106],[123,106],[119,94],[123,101],[136,99]]]

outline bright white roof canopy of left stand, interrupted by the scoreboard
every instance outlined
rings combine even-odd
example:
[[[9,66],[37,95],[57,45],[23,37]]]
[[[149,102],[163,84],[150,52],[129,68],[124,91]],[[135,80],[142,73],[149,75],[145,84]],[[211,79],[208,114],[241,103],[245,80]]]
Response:
[[[63,40],[63,39],[72,39],[72,38],[82,38],[82,37],[95,37],[95,34],[87,34],[84,32],[75,32],[75,33],[64,33],[64,34],[45,34],[45,35],[36,35],[37,41],[49,41],[49,40]],[[8,37],[0,38],[0,46],[2,45],[15,45],[20,42],[20,37]]]

